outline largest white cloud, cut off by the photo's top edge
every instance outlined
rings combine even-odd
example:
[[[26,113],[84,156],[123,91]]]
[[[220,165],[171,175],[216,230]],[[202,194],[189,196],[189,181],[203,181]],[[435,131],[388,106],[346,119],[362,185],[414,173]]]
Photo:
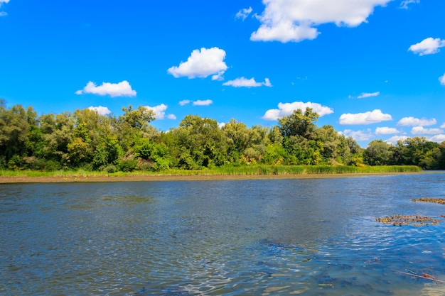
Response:
[[[315,26],[358,26],[367,21],[375,6],[385,6],[390,1],[263,0],[266,8],[258,17],[261,25],[250,40],[286,43],[314,39],[319,34]]]

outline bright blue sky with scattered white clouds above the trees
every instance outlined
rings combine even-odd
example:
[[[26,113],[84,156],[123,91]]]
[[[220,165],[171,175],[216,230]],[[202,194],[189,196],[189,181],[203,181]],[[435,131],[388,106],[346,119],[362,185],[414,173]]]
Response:
[[[362,147],[445,141],[445,1],[0,0],[0,98],[277,125],[311,106]]]

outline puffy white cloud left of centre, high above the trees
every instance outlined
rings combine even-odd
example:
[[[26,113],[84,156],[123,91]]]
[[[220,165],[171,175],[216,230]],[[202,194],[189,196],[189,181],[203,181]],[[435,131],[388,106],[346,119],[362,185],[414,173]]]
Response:
[[[201,48],[193,50],[187,62],[181,62],[178,67],[171,67],[167,72],[176,78],[205,78],[213,75],[212,80],[221,80],[227,70],[224,59],[225,51],[220,48]]]

